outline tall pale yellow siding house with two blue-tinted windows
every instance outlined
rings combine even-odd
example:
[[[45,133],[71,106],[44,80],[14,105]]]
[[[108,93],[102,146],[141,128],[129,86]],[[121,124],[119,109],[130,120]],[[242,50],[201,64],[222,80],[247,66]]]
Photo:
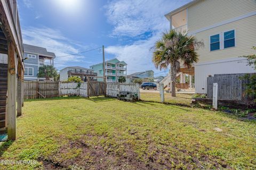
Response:
[[[170,29],[187,31],[204,43],[197,50],[198,63],[181,68],[181,73],[195,74],[196,93],[206,94],[207,77],[214,74],[254,72],[239,56],[255,53],[255,0],[194,0],[165,16]]]

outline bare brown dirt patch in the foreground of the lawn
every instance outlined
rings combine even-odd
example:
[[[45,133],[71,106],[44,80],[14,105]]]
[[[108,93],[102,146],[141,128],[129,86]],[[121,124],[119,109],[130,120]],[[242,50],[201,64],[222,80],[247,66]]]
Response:
[[[47,158],[40,157],[38,161],[43,163],[45,169],[205,169],[204,165],[211,165],[212,168],[230,168],[220,158],[206,154],[196,155],[199,151],[197,149],[189,152],[171,144],[156,148],[154,143],[148,143],[148,152],[139,156],[125,141],[119,147],[112,147],[92,145],[86,142],[86,138],[93,136],[87,135],[85,138],[70,141],[56,154]],[[107,137],[96,138],[102,140]],[[78,154],[75,154],[76,151]]]

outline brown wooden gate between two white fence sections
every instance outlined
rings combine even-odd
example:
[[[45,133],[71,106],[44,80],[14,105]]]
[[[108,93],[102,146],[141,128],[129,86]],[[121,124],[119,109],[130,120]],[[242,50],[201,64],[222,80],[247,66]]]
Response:
[[[89,97],[106,95],[107,85],[105,82],[94,81],[94,82],[87,82],[87,83],[88,83],[87,94]]]

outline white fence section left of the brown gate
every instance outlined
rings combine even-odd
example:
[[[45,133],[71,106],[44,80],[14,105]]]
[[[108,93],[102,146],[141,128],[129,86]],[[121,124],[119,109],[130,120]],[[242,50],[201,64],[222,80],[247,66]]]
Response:
[[[60,96],[83,96],[87,97],[87,83],[81,83],[80,88],[77,87],[78,83],[63,83],[59,82],[59,95]]]

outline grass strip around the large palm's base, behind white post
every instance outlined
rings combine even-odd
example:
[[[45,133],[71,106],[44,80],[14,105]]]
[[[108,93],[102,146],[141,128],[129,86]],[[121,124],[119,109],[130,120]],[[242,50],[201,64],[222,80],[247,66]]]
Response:
[[[176,94],[177,97],[172,97],[170,93],[164,93],[164,100],[170,104],[190,105],[193,94]],[[141,100],[161,102],[159,92],[141,92]]]

